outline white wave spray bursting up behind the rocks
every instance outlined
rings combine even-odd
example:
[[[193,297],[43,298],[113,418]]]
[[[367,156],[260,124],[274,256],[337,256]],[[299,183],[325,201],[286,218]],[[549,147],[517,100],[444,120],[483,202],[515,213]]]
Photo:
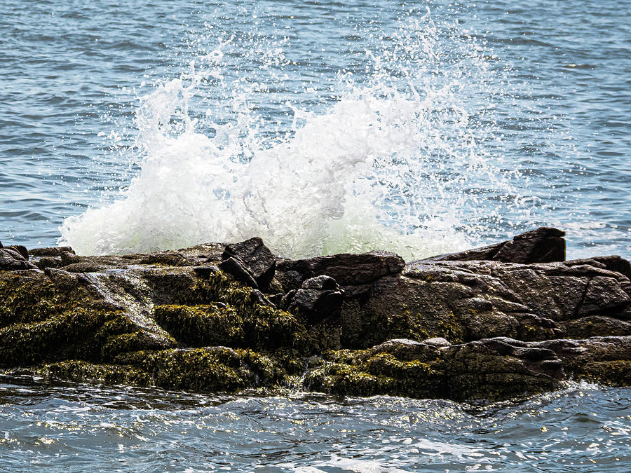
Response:
[[[205,56],[208,70],[142,97],[140,174],[114,202],[66,219],[60,242],[123,254],[259,235],[292,258],[383,248],[406,259],[475,243],[501,219],[503,196],[522,204],[482,144],[492,130],[471,118],[492,108],[491,92],[486,103],[467,92],[488,88],[484,51],[454,33],[443,40],[459,44],[448,57],[439,33],[427,15],[408,22],[396,47],[367,52],[369,81],[348,86],[343,76],[346,91],[324,111],[292,106],[290,130],[273,143],[235,83],[222,83],[235,88],[223,104],[233,120],[191,118],[201,80],[222,79],[222,43]],[[214,136],[199,131],[209,126]]]

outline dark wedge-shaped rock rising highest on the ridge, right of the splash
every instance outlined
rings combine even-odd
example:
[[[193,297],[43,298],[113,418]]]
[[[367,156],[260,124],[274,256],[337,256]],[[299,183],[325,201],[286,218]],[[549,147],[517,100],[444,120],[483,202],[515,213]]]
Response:
[[[503,261],[524,264],[565,261],[564,235],[557,228],[541,227],[516,235],[513,240],[460,253],[433,256],[422,261]]]

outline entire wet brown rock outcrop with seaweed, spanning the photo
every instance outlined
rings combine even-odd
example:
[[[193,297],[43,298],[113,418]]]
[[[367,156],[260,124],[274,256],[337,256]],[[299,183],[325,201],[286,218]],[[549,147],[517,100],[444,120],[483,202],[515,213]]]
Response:
[[[631,266],[563,233],[405,262],[259,238],[125,256],[0,246],[0,368],[236,392],[506,399],[631,385]]]

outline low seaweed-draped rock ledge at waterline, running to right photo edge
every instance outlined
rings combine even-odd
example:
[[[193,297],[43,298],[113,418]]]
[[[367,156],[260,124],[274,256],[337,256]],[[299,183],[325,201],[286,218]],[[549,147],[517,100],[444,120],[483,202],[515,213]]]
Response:
[[[405,339],[328,352],[306,383],[337,395],[503,399],[554,390],[568,378],[628,385],[631,337],[523,342],[483,338],[436,346]]]

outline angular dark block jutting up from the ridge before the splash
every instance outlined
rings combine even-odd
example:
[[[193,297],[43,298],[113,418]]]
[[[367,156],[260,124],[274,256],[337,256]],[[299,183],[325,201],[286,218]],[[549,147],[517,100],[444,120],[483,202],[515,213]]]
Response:
[[[257,287],[266,290],[276,272],[276,256],[259,237],[226,245],[222,259],[239,259],[252,273]]]

